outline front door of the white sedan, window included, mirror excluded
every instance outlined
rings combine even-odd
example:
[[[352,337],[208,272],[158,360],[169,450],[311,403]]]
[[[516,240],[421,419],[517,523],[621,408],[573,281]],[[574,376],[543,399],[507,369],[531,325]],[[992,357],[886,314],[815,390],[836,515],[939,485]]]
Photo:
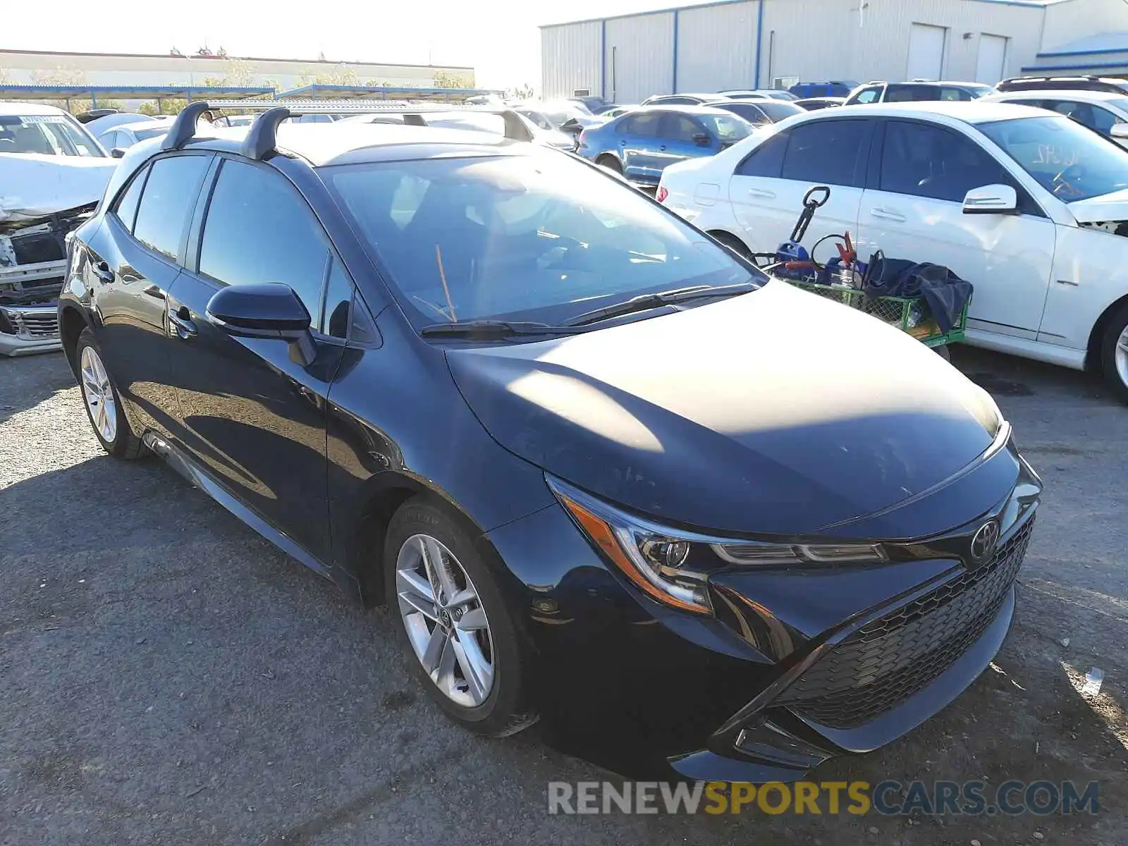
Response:
[[[975,285],[968,327],[1033,340],[1054,266],[1055,224],[972,136],[925,121],[885,121],[857,229],[858,257],[931,262]],[[1019,214],[964,214],[971,188],[1005,184]]]

